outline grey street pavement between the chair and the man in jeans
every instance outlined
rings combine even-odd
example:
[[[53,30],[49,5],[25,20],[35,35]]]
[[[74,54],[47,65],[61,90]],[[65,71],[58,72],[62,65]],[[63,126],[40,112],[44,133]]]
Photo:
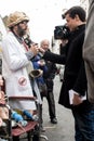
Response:
[[[46,99],[43,99],[43,126],[45,132],[42,132],[42,134],[48,138],[48,141],[75,141],[73,117],[71,111],[58,104],[61,86],[62,82],[57,75],[54,79],[57,124],[50,123]],[[41,138],[41,141],[45,140]]]

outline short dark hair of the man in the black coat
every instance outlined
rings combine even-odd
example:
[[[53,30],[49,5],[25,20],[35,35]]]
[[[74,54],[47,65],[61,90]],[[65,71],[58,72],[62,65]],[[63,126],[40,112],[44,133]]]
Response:
[[[82,22],[85,22],[85,11],[81,7],[70,8],[62,15],[62,17],[65,18],[67,14],[69,14],[69,16],[72,18],[75,18],[76,15],[78,15]]]

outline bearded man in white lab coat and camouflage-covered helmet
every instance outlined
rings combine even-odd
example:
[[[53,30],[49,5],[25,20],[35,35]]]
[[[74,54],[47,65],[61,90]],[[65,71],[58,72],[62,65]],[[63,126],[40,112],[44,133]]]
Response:
[[[2,40],[2,75],[5,78],[6,95],[12,108],[36,110],[32,88],[29,81],[27,67],[30,60],[38,54],[38,46],[32,44],[29,49],[23,40],[28,28],[29,18],[24,12],[11,13],[8,17],[9,31]],[[24,98],[12,100],[10,98]],[[28,100],[26,100],[28,98]]]

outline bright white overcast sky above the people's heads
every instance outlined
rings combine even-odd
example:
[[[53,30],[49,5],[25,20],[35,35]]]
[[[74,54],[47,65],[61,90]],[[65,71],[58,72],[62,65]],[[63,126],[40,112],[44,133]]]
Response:
[[[0,0],[0,15],[3,17],[15,11],[25,12],[29,18],[33,41],[53,36],[54,26],[63,25],[63,9],[79,5],[79,0]]]

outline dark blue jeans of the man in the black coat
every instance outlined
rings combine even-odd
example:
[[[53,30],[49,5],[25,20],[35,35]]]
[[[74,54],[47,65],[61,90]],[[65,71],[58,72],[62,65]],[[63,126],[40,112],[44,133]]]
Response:
[[[76,141],[94,141],[94,110],[72,110]]]

